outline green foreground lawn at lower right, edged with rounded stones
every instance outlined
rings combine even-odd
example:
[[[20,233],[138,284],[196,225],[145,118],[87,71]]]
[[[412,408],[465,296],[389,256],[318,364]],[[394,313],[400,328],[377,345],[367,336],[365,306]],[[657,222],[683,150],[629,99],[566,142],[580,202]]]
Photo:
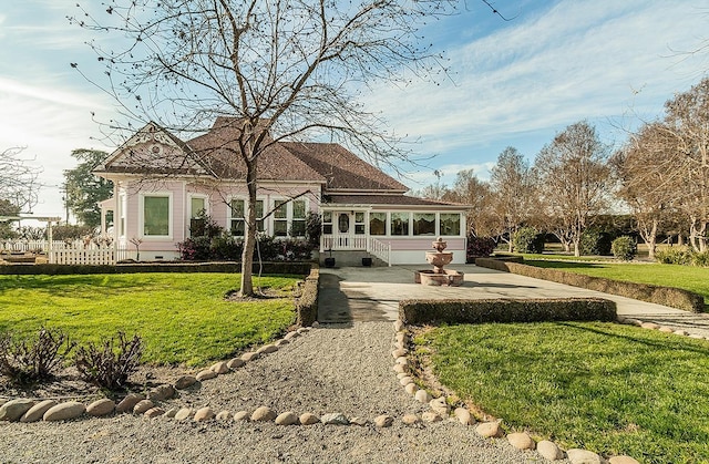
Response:
[[[709,462],[709,342],[615,323],[440,327],[440,381],[514,430],[646,463]]]

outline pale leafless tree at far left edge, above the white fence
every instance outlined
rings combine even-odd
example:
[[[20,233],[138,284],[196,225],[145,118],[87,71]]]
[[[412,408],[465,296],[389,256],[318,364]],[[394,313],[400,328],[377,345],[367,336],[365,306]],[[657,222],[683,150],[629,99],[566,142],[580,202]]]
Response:
[[[11,147],[0,152],[0,200],[18,213],[31,212],[37,205],[40,167],[32,166],[33,158],[22,156],[24,147]]]

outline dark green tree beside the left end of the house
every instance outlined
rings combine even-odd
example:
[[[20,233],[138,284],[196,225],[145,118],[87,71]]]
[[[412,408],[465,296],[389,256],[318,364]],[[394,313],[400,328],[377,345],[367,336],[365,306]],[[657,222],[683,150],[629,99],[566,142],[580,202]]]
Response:
[[[101,225],[99,202],[111,198],[113,183],[95,176],[92,171],[109,154],[99,149],[78,148],[71,155],[79,164],[73,169],[64,171],[64,205],[81,224],[95,228]]]

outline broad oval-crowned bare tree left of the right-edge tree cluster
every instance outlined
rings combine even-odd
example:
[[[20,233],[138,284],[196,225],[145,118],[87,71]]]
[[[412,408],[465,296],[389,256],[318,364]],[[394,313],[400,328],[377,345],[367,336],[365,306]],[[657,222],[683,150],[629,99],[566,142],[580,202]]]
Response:
[[[610,193],[608,148],[586,122],[569,125],[545,145],[534,163],[543,213],[551,231],[580,256],[580,237]]]

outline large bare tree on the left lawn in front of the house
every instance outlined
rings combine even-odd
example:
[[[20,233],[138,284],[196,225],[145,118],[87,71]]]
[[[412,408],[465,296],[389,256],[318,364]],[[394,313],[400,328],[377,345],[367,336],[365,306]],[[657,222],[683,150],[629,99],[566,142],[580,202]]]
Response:
[[[106,64],[104,90],[126,116],[173,131],[239,120],[223,153],[248,187],[240,293],[253,293],[258,158],[278,141],[328,136],[374,164],[407,159],[397,137],[358,104],[376,80],[405,83],[439,71],[418,29],[452,11],[452,0],[116,0],[82,10],[79,25],[120,38],[91,45]],[[122,47],[123,45],[123,47]],[[433,61],[432,61],[433,60]],[[79,69],[78,63],[72,66]],[[209,153],[203,153],[208,157]]]

